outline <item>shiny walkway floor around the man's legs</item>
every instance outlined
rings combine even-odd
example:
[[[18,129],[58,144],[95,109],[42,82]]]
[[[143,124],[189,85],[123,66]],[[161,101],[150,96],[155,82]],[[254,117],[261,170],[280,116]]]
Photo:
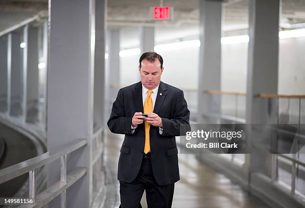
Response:
[[[118,208],[120,205],[117,167],[123,139],[124,135],[106,135],[105,165],[108,173],[105,208]],[[225,175],[199,163],[194,155],[179,154],[178,157],[180,181],[175,183],[172,208],[268,208]],[[147,208],[145,194],[141,205]]]

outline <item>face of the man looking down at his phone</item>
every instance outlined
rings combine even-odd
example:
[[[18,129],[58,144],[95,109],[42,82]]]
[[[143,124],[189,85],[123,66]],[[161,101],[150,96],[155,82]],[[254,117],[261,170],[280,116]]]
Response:
[[[161,80],[161,74],[164,68],[160,68],[161,64],[158,59],[155,59],[153,63],[144,59],[141,62],[141,68],[139,67],[141,82],[144,87],[149,90],[156,88]]]

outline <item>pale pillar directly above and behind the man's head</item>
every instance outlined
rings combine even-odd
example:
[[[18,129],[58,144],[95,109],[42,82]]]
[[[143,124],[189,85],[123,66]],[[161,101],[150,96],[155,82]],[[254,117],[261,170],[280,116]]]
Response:
[[[154,51],[154,27],[139,27],[141,54]]]

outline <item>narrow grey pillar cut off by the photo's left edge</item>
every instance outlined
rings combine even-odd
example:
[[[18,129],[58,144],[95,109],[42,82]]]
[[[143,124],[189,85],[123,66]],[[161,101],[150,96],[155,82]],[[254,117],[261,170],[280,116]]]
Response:
[[[7,36],[0,37],[0,112],[7,111]]]

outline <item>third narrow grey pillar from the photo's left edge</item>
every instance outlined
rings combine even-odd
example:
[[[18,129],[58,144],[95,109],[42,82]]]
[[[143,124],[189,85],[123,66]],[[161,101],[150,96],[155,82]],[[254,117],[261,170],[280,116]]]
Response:
[[[38,28],[27,27],[26,73],[23,77],[24,86],[24,118],[26,122],[36,122],[38,119]]]

